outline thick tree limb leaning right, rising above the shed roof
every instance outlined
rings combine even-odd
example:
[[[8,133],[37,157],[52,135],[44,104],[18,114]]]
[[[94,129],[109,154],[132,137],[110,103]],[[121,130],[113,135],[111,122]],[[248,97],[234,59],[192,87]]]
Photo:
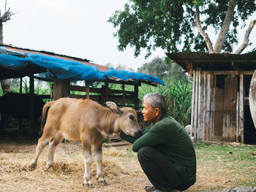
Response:
[[[214,53],[220,53],[225,42],[227,31],[230,28],[230,23],[233,20],[234,10],[236,7],[236,0],[230,0],[227,7],[227,15],[222,23],[222,28],[219,31],[219,36],[214,47]]]

